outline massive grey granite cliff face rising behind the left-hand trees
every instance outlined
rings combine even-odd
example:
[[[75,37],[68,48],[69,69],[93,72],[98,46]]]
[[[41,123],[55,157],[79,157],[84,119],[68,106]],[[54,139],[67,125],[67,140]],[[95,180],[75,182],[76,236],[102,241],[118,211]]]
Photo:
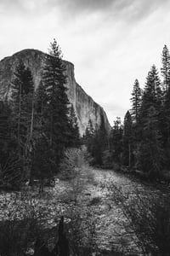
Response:
[[[26,67],[31,69],[35,87],[42,80],[42,70],[46,54],[37,49],[24,49],[20,52],[4,58],[0,61],[0,98],[9,98],[11,82],[14,79],[14,71],[18,65],[18,61],[22,60]],[[101,117],[105,122],[105,128],[110,131],[111,126],[103,108],[86,94],[82,87],[77,84],[74,75],[74,65],[69,61],[64,61],[67,75],[68,97],[73,104],[77,114],[78,125],[81,135],[86,130],[89,119],[91,119],[94,128],[99,127]]]

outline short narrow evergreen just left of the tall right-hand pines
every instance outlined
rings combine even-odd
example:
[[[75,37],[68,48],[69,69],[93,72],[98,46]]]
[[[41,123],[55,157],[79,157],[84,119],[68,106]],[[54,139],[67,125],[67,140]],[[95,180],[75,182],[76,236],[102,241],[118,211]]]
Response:
[[[129,111],[125,115],[123,128],[123,164],[130,167],[133,160],[133,122]]]

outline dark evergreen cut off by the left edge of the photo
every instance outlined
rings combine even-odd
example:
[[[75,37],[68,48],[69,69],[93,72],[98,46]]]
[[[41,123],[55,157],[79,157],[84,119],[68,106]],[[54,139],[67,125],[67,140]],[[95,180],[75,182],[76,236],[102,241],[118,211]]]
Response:
[[[8,102],[0,102],[0,187],[20,187],[20,160],[16,154],[17,143],[11,131],[11,109]]]

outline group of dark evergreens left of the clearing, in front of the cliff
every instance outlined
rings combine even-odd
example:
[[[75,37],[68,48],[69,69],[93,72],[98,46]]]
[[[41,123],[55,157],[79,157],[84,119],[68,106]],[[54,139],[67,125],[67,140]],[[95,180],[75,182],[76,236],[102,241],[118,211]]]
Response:
[[[20,187],[59,172],[65,148],[80,145],[77,117],[66,94],[67,77],[56,40],[50,44],[35,90],[22,60],[14,71],[10,97],[0,102],[0,186]]]

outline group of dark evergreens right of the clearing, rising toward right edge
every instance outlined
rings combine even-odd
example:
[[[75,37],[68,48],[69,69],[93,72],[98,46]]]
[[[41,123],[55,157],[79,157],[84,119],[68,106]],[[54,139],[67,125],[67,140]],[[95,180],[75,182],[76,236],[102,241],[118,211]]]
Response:
[[[167,45],[161,56],[161,78],[155,65],[150,68],[144,88],[133,84],[132,107],[124,122],[116,118],[111,134],[94,131],[89,122],[85,141],[102,166],[127,166],[151,177],[160,177],[170,164],[170,55]],[[99,137],[99,132],[101,136]],[[98,135],[97,135],[98,134]],[[99,137],[98,145],[95,142]],[[99,143],[102,145],[99,147]],[[95,149],[96,147],[96,149]],[[97,154],[99,154],[97,160]],[[119,168],[119,167],[118,167]]]

